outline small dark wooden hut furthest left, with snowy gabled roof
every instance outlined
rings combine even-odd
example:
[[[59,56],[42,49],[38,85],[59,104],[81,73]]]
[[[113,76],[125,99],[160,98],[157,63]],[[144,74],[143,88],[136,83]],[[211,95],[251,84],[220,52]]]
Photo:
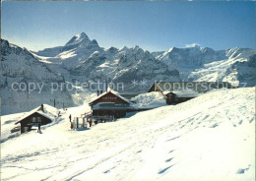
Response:
[[[15,124],[21,124],[21,133],[29,132],[32,130],[32,126],[51,123],[53,121],[53,114],[46,111],[44,105],[41,104],[41,106],[34,108],[32,111],[20,118]]]

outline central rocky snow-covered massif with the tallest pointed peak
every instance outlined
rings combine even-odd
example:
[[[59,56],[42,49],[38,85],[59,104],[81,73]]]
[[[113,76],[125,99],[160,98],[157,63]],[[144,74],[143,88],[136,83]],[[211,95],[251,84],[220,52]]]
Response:
[[[49,67],[71,82],[104,81],[122,83],[126,91],[147,91],[153,82],[180,81],[177,70],[166,67],[149,51],[139,46],[104,49],[85,32],[73,36],[64,46],[33,52]],[[132,81],[144,81],[144,87],[133,87]]]

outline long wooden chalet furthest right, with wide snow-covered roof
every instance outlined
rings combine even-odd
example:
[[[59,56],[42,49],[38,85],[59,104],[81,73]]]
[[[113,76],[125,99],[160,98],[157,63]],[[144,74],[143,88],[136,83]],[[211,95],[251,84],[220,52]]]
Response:
[[[207,91],[231,89],[227,82],[157,82],[148,92],[160,91],[167,104],[180,103]]]

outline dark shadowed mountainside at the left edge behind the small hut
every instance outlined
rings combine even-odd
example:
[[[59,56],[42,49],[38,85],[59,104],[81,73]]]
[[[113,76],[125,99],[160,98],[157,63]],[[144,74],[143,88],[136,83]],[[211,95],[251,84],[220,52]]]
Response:
[[[65,83],[63,76],[39,62],[26,48],[1,39],[1,55],[2,114],[29,111],[44,102],[52,104],[50,99],[54,98],[66,106],[74,105],[69,92],[50,91],[52,83]],[[62,103],[57,105],[61,107]]]

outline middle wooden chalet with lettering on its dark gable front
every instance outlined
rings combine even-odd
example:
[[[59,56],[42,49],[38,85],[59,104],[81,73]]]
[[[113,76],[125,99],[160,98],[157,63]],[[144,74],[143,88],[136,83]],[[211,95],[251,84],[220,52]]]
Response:
[[[130,101],[118,93],[107,91],[102,93],[89,105],[92,108],[93,116],[113,116],[120,118],[126,115],[129,111]]]

